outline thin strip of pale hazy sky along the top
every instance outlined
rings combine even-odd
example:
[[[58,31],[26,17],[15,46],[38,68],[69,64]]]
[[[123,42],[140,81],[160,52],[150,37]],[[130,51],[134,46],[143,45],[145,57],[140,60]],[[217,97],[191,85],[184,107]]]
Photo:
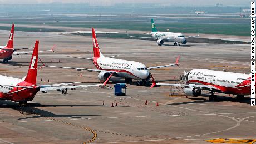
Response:
[[[225,6],[249,6],[251,0],[0,0],[1,4],[30,4],[30,3],[90,3],[92,6],[112,6],[118,3],[157,3],[168,6],[210,6],[217,3]]]

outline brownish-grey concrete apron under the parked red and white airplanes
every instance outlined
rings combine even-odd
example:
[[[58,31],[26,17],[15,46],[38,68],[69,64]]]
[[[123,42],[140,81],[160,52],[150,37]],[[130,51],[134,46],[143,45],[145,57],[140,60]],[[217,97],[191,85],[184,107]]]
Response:
[[[17,32],[15,47],[28,47],[40,40],[40,49],[56,44],[57,53],[41,53],[47,65],[95,68],[91,61],[67,56],[92,57],[92,38],[53,33]],[[8,33],[0,34],[6,43]],[[151,71],[156,81],[178,83],[184,69],[202,68],[249,73],[249,45],[188,43],[159,47],[154,41],[98,38],[101,52],[120,54],[121,59],[144,63],[147,67],[174,63],[180,68]],[[22,78],[31,56],[13,56],[11,63],[0,63],[2,75]],[[60,62],[58,62],[60,61]],[[42,68],[41,85],[63,82],[99,82],[96,72]],[[42,79],[42,81],[41,81]],[[50,82],[48,82],[48,80]],[[114,85],[109,85],[114,87]],[[218,101],[203,96],[170,96],[170,87],[150,89],[128,85],[127,96],[114,96],[114,90],[91,87],[38,93],[31,101],[34,114],[19,113],[18,103],[0,101],[0,142],[2,143],[209,143],[215,138],[255,138],[256,107],[235,96],[217,94]],[[149,103],[145,105],[145,101]],[[114,107],[111,107],[112,103]],[[115,104],[117,103],[117,106]],[[159,103],[159,106],[156,106]]]

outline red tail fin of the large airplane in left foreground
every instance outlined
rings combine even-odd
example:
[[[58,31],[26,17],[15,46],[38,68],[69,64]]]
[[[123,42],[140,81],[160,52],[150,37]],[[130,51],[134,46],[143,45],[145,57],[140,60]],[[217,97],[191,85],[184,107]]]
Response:
[[[36,77],[37,77],[38,44],[39,44],[39,41],[36,41],[34,51],[31,57],[28,73],[25,78],[25,82],[31,83],[33,85],[36,85]]]

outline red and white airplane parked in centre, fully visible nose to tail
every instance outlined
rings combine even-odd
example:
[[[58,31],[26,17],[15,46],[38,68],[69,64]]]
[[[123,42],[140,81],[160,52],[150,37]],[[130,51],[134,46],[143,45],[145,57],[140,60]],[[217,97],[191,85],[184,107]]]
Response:
[[[97,42],[94,28],[92,28],[92,43],[93,43],[93,53],[94,53],[93,58],[83,58],[83,57],[75,57],[75,58],[89,59],[93,61],[93,64],[97,69],[60,67],[60,66],[46,66],[46,67],[69,68],[69,69],[77,69],[78,71],[81,71],[81,70],[96,71],[96,72],[99,72],[98,78],[100,80],[109,80],[111,76],[115,76],[115,77],[125,78],[126,82],[131,82],[132,79],[142,80],[142,82],[146,82],[147,80],[150,80],[150,77],[151,77],[151,73],[149,72],[150,69],[179,66],[178,64],[179,57],[176,59],[176,62],[174,64],[168,64],[165,66],[155,66],[155,67],[146,67],[144,64],[139,62],[112,58],[115,56],[105,57],[100,52],[100,48]]]

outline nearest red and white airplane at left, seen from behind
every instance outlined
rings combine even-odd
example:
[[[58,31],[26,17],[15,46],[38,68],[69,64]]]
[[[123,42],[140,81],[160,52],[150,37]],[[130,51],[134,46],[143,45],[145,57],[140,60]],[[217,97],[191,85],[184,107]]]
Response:
[[[57,90],[61,91],[65,88],[80,88],[80,87],[91,87],[99,86],[101,84],[95,85],[78,85],[78,86],[68,86],[75,83],[59,83],[52,85],[41,85],[38,86],[36,83],[37,79],[37,61],[38,61],[38,44],[36,41],[35,48],[31,57],[31,63],[28,69],[27,76],[18,79],[13,77],[7,77],[0,75],[0,98],[3,100],[10,100],[22,103],[27,103],[27,101],[32,101],[38,91],[46,93],[46,91]]]

